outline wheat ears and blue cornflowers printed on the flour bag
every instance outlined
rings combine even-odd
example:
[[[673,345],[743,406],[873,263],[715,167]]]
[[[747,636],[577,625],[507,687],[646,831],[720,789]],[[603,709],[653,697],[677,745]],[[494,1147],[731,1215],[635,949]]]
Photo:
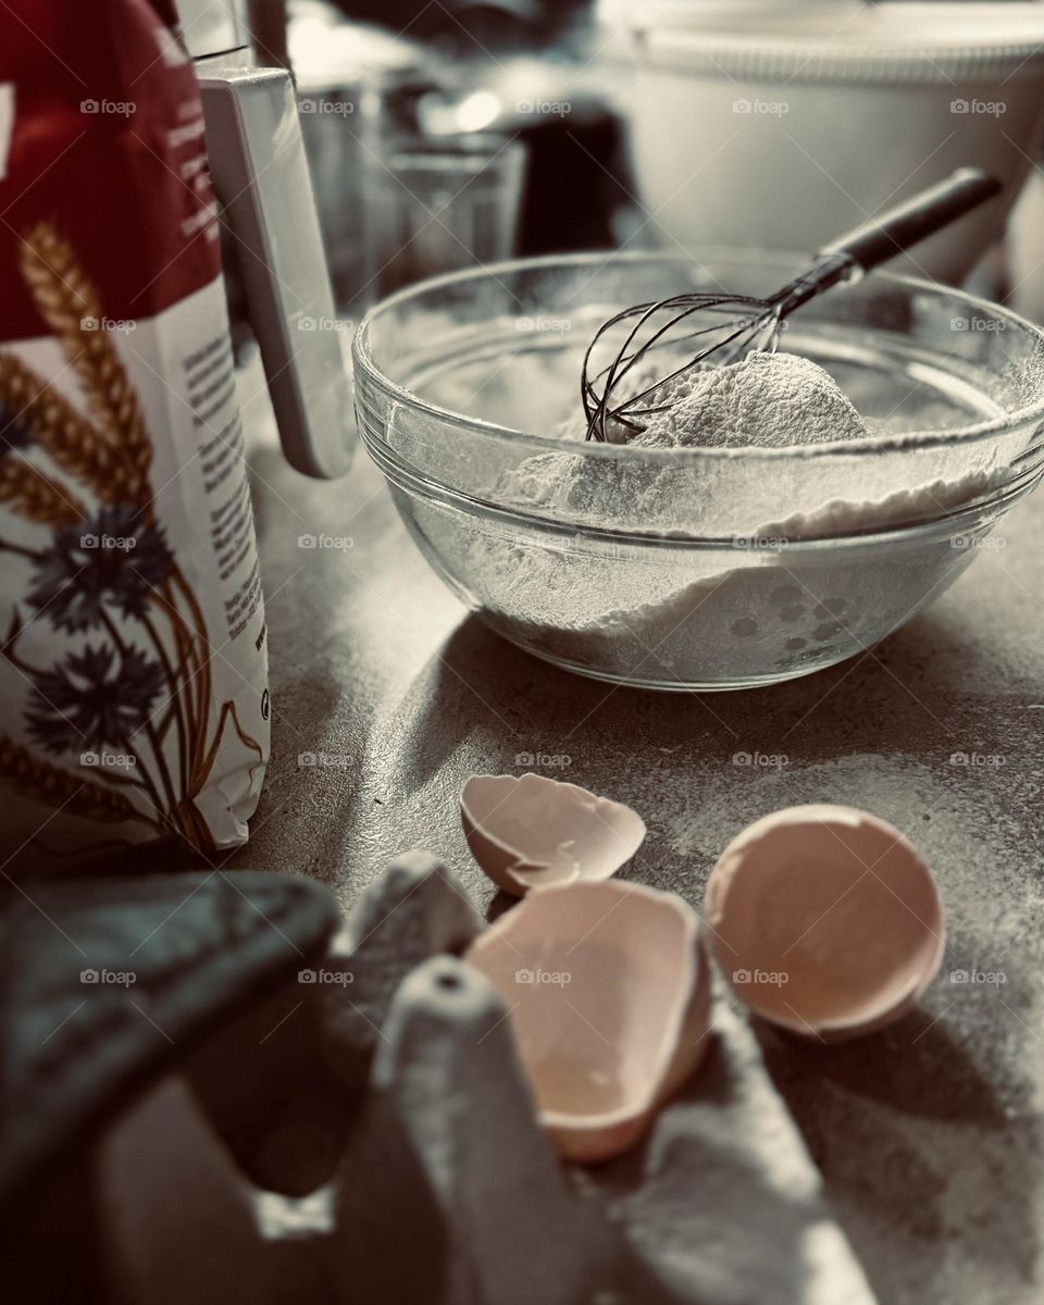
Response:
[[[0,776],[72,814],[214,851],[196,799],[226,733],[258,766],[262,746],[232,699],[211,703],[206,620],[157,519],[145,415],[91,282],[48,223],[25,232],[21,274],[90,418],[0,350],[0,505],[50,531],[35,548],[0,538],[30,572],[0,652],[31,685],[31,744],[0,735]],[[30,621],[67,641],[54,664],[20,654]],[[120,773],[87,778],[60,761],[111,750]]]

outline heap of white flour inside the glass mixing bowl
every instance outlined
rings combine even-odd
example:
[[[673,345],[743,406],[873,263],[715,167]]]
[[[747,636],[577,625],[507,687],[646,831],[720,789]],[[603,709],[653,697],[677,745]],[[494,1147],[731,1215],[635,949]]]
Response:
[[[626,390],[617,392],[619,402],[652,385],[663,373],[659,367],[658,373],[636,368]],[[793,354],[752,354],[732,365],[701,365],[636,406],[656,403],[669,407],[634,418],[643,424],[638,432],[616,423],[609,440],[664,450],[782,449],[870,433],[834,378]],[[582,414],[564,422],[557,435],[561,453],[539,453],[501,472],[489,497],[581,527],[641,530],[668,540],[701,529],[714,535],[715,514],[735,521],[735,500],[746,501],[736,492],[740,463],[706,459],[692,467],[688,461],[672,466],[669,459],[629,462],[625,455],[570,453],[569,444],[586,436]],[[786,474],[805,472],[797,466]],[[715,680],[727,668],[743,680],[763,675],[766,660],[776,669],[796,671],[831,659],[835,641],[873,642],[887,621],[906,620],[941,577],[960,570],[970,557],[955,553],[946,538],[883,545],[869,565],[865,549],[826,543],[788,556],[787,543],[938,514],[984,492],[993,479],[974,471],[877,499],[833,499],[810,512],[784,514],[793,500],[783,471],[775,487],[765,484],[763,467],[752,468],[750,476],[752,488],[758,479],[752,501],[784,509],[779,519],[752,525],[745,538],[758,551],[750,565],[723,566],[735,561],[732,549],[660,551],[621,538],[607,555],[604,543],[587,544],[582,536],[559,544],[547,535],[538,543],[482,534],[474,539],[467,569],[472,577],[487,576],[488,587],[480,586],[479,595],[487,619],[496,624],[502,617],[505,633],[525,633],[555,658],[638,679],[673,672],[680,680]],[[723,502],[729,495],[733,502]],[[778,540],[778,549],[766,552],[765,540]]]

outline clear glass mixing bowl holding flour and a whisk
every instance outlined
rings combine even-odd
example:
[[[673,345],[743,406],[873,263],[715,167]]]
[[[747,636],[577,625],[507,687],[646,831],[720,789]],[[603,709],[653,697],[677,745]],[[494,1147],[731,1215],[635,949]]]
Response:
[[[886,274],[822,295],[780,348],[863,438],[646,449],[555,436],[620,308],[765,295],[797,254],[579,254],[423,282],[355,335],[363,440],[424,556],[497,633],[581,675],[740,689],[876,643],[977,556],[1044,472],[1044,333]]]

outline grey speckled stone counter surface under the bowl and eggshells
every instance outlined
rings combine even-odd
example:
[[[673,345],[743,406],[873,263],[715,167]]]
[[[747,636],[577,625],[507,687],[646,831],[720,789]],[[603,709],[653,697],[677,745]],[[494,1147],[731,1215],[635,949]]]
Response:
[[[316,876],[350,906],[422,846],[492,906],[457,795],[472,771],[542,769],[522,754],[568,758],[543,769],[632,804],[649,837],[622,873],[697,906],[724,844],[766,812],[882,816],[937,876],[944,970],[891,1030],[825,1048],[758,1026],[763,1054],[882,1301],[1039,1305],[1044,497],[860,658],[769,689],[660,696],[489,633],[428,569],[361,450],[338,484],[298,476],[270,445],[252,468],[273,758],[234,864]],[[307,534],[351,547],[301,548]],[[756,753],[784,763],[735,760]]]

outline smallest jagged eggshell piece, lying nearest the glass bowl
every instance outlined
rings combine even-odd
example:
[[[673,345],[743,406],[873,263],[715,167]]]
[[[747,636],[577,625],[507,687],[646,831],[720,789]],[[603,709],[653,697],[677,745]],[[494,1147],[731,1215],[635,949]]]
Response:
[[[531,887],[607,880],[645,839],[622,803],[545,775],[472,775],[461,790],[471,855],[514,897]]]

